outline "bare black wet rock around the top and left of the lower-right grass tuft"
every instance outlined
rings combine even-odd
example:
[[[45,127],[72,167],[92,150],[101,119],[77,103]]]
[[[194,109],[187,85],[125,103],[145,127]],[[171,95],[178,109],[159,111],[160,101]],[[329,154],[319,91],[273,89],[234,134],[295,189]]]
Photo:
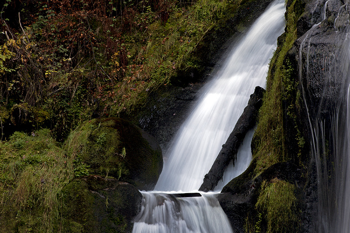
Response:
[[[301,187],[304,181],[300,178],[301,170],[292,163],[277,163],[268,167],[259,176],[254,178],[256,161],[253,160],[249,167],[238,177],[223,187],[217,200],[222,210],[227,215],[233,230],[236,233],[244,232],[244,225],[247,216],[256,215],[255,204],[259,196],[262,181],[270,181],[274,178],[283,180],[297,187],[297,198],[300,205],[303,205],[304,197]]]

